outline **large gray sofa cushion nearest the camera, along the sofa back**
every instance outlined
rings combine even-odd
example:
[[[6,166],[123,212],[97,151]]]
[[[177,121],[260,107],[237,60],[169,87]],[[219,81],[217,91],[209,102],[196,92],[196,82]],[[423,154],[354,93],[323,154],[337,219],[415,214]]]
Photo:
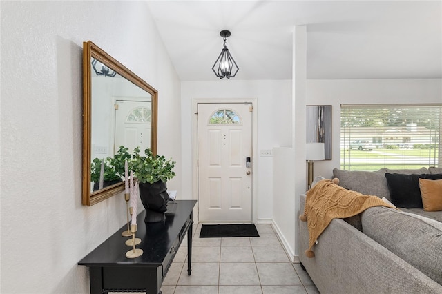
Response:
[[[361,220],[365,235],[442,284],[442,223],[383,206]]]

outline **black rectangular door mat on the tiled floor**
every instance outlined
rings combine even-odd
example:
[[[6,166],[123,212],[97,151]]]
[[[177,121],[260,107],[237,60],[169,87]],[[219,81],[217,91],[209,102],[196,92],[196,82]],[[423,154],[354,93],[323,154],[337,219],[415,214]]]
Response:
[[[259,237],[255,224],[203,224],[200,238]]]

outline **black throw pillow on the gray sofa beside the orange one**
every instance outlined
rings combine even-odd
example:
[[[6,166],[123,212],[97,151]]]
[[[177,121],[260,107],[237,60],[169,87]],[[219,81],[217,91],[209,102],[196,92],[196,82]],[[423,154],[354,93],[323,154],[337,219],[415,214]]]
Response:
[[[442,179],[442,174],[385,173],[390,199],[397,207],[423,208],[419,179]]]

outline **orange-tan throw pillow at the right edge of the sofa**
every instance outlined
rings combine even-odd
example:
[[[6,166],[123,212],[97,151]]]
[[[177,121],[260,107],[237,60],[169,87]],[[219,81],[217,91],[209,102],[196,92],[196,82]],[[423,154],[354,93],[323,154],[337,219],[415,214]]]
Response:
[[[423,210],[442,210],[442,179],[419,179]]]

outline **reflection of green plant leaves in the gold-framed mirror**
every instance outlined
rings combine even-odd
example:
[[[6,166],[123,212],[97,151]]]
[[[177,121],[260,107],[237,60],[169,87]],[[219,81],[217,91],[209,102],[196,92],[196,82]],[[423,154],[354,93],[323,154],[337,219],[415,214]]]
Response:
[[[119,146],[117,153],[113,157],[104,159],[95,158],[90,164],[90,181],[94,182],[93,190],[99,189],[99,177],[102,169],[102,161],[104,160],[103,172],[103,188],[122,182],[124,177],[124,161],[131,159],[128,148]]]

